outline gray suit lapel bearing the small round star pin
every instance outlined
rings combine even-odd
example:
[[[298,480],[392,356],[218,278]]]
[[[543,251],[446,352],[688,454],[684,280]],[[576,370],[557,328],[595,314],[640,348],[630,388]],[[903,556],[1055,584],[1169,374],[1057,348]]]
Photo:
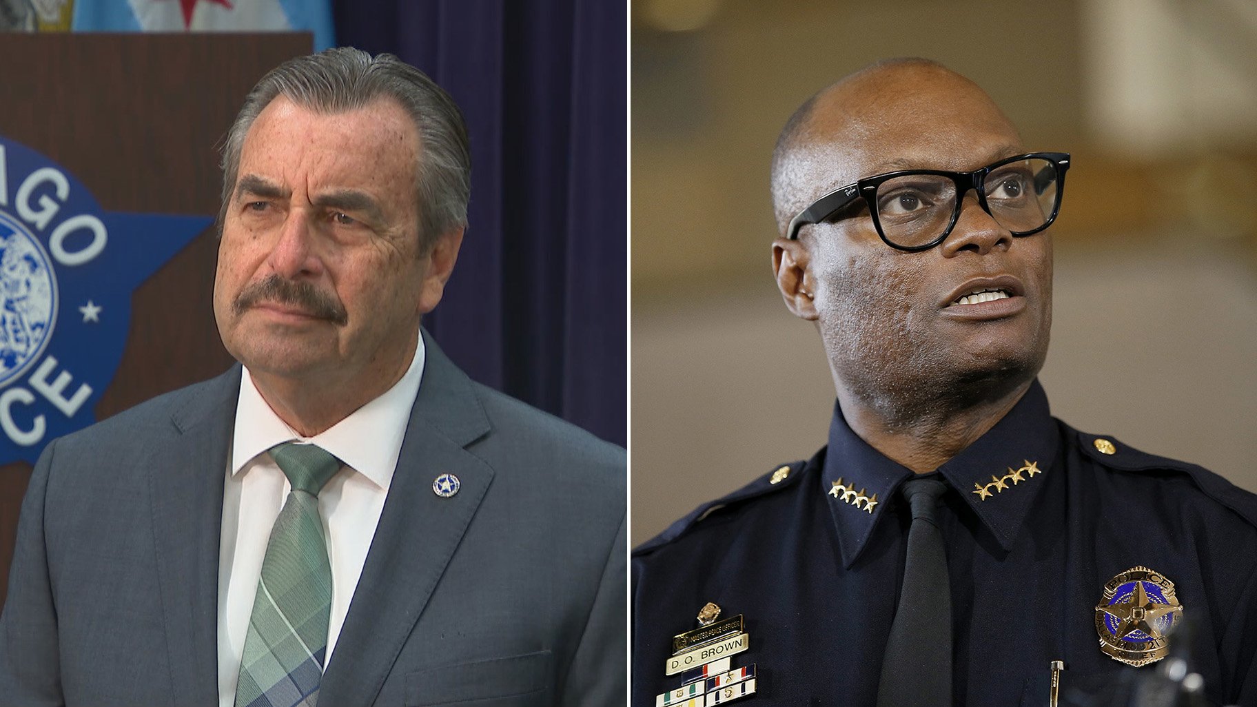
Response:
[[[370,704],[480,507],[493,469],[465,447],[489,433],[471,382],[424,332],[426,357],[397,470],[323,673],[319,702]],[[453,473],[458,494],[432,481]]]

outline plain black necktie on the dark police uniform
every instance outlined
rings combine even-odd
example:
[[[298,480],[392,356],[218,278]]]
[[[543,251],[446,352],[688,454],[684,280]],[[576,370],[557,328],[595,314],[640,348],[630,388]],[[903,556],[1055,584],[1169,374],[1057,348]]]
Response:
[[[947,486],[936,479],[904,483],[913,508],[904,587],[881,664],[877,707],[952,704],[952,584],[934,508]]]

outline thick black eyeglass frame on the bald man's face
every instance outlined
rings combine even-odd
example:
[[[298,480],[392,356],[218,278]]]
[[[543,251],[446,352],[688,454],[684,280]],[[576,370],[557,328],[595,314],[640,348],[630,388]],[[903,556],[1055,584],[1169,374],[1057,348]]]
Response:
[[[833,214],[846,209],[856,199],[864,196],[865,203],[869,205],[869,214],[872,216],[872,225],[877,229],[877,235],[881,237],[882,243],[899,250],[929,250],[939,243],[943,243],[947,237],[952,234],[952,229],[955,228],[955,223],[960,219],[964,198],[969,194],[970,189],[978,192],[978,205],[982,206],[982,210],[991,215],[991,218],[996,219],[996,215],[991,213],[991,206],[987,205],[987,195],[983,190],[987,175],[991,174],[992,170],[997,170],[1004,165],[1033,159],[1047,160],[1056,167],[1056,204],[1052,205],[1052,214],[1047,218],[1047,221],[1037,229],[1008,231],[1016,237],[1033,235],[1052,225],[1052,221],[1056,220],[1056,215],[1061,210],[1061,198],[1065,194],[1065,172],[1070,169],[1068,152],[1029,152],[1027,155],[1017,155],[1014,157],[999,160],[998,162],[993,162],[985,167],[973,170],[972,172],[949,172],[944,170],[900,170],[897,172],[886,172],[884,175],[865,177],[855,184],[835,189],[813,201],[807,209],[799,211],[797,216],[791,219],[789,226],[786,229],[786,238],[789,240],[797,240],[798,231],[803,226],[822,223]],[[877,187],[884,181],[908,175],[945,176],[950,177],[952,181],[955,182],[955,208],[952,210],[952,220],[948,223],[947,228],[943,229],[941,235],[924,245],[900,245],[897,243],[891,243],[891,240],[886,238],[886,234],[881,230],[881,221],[877,219]],[[998,219],[996,220],[998,223]]]

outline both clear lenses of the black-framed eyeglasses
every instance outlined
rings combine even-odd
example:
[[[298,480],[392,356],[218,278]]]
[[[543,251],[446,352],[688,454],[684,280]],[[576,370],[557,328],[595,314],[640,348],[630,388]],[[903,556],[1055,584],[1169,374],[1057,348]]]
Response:
[[[1056,165],[1042,157],[1001,165],[985,175],[983,195],[992,218],[1013,234],[1043,226],[1056,209]],[[934,242],[955,213],[957,187],[952,177],[904,175],[877,185],[877,221],[882,235],[913,248]]]

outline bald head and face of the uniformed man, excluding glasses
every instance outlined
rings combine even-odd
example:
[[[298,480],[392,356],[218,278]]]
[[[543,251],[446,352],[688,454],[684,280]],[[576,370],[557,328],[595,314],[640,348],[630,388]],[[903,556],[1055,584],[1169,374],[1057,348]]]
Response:
[[[1014,238],[975,194],[959,195],[954,228],[919,252],[884,243],[864,200],[797,239],[786,238],[789,221],[865,177],[969,172],[1026,152],[989,96],[926,59],[864,68],[786,123],[772,166],[773,270],[787,307],[816,322],[843,414],[904,430],[939,411],[1016,400],[1047,355],[1051,238]],[[993,282],[1007,284],[1003,304],[958,304]]]

